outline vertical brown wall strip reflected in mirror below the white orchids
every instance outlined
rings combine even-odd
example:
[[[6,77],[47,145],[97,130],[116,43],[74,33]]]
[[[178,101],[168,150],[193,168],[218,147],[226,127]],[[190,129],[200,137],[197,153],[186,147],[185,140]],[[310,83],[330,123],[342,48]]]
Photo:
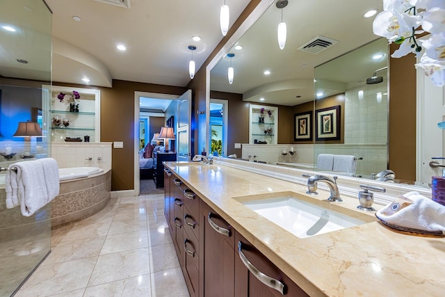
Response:
[[[390,52],[398,48],[392,44]],[[416,180],[416,57],[389,58],[389,169]]]

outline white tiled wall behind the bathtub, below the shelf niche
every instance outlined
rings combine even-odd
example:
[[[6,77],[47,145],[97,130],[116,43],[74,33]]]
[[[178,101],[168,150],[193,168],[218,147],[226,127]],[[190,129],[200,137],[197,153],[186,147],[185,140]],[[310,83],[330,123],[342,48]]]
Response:
[[[111,170],[113,143],[51,143],[51,157],[59,168],[99,167]],[[102,158],[98,160],[97,158]],[[91,160],[87,160],[91,158]]]

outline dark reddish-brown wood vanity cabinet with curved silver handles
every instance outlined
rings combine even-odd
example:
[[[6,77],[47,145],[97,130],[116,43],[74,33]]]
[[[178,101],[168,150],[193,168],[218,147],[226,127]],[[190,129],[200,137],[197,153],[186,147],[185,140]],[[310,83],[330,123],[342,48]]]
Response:
[[[259,278],[285,296],[308,296],[179,178],[165,174],[165,184],[165,218],[191,296],[282,296]]]

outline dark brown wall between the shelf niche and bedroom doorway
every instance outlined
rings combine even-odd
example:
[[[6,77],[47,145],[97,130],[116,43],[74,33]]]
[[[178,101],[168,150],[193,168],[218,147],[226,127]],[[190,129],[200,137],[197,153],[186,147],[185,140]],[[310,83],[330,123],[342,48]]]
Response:
[[[111,191],[133,190],[134,188],[134,92],[151,92],[182,95],[186,88],[161,86],[151,83],[113,80],[113,88],[53,82],[54,86],[95,88],[101,90],[100,140],[122,141],[123,149],[113,149]]]

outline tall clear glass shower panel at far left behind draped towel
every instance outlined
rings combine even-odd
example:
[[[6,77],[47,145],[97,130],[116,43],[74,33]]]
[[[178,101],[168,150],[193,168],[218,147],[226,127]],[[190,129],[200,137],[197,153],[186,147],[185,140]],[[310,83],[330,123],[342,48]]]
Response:
[[[0,166],[49,156],[52,15],[42,0],[0,1]],[[7,27],[7,29],[5,29]],[[36,122],[41,137],[14,137],[19,122]],[[0,296],[12,296],[51,248],[51,205],[33,216],[6,208],[0,172]]]

